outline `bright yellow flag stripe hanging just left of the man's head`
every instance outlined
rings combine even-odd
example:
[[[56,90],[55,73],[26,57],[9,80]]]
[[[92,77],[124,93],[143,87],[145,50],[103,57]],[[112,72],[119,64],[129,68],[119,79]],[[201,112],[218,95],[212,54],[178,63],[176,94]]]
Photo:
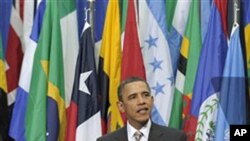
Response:
[[[108,3],[104,24],[100,56],[103,57],[104,72],[109,77],[109,102],[111,120],[109,131],[123,126],[120,111],[116,105],[118,101],[117,89],[121,79],[121,29],[119,1],[112,0]]]

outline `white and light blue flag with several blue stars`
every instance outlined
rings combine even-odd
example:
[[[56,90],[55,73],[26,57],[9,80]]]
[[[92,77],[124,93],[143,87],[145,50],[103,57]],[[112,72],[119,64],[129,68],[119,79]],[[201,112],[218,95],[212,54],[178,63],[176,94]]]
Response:
[[[164,0],[139,1],[140,43],[146,78],[154,96],[152,120],[168,125],[173,100],[174,76],[167,42]]]

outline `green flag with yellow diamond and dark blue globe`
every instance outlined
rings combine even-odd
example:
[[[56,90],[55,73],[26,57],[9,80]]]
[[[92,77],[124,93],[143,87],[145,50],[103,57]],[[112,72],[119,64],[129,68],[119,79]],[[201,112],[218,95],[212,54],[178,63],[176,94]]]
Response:
[[[25,117],[26,140],[64,140],[66,114],[60,16],[68,1],[46,1]],[[65,8],[65,9],[62,9]],[[66,14],[67,14],[66,13]]]

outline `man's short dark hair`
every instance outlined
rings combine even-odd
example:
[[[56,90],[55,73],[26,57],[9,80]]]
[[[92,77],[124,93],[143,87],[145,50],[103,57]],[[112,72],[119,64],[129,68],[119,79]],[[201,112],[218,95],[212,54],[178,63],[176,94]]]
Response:
[[[148,84],[148,82],[147,82],[145,79],[140,78],[140,77],[136,77],[136,76],[132,76],[132,77],[129,77],[129,78],[123,80],[123,81],[120,83],[120,85],[119,85],[119,87],[118,87],[118,100],[119,100],[119,101],[122,101],[122,90],[124,89],[124,87],[125,87],[127,84],[129,84],[129,83],[137,82],[137,81],[142,81],[142,82],[144,82],[144,83],[147,85],[149,92],[151,93],[151,89],[150,89],[150,87],[149,87],[149,84]]]

